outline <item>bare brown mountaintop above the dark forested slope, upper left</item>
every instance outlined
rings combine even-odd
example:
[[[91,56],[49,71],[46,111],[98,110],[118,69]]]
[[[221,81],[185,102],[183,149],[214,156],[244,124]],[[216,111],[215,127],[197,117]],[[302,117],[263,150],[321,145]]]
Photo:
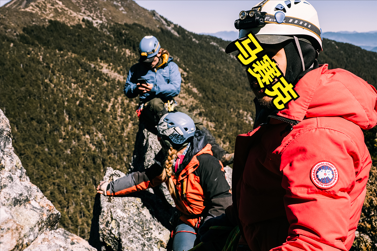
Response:
[[[1,30],[21,33],[20,18],[30,24],[46,25],[48,20],[57,20],[69,26],[80,24],[83,19],[93,22],[94,26],[113,23],[137,23],[158,31],[169,30],[174,35],[175,24],[160,17],[155,11],[148,11],[132,0],[12,0],[4,5]],[[20,16],[21,15],[21,16]],[[9,34],[8,34],[9,35]]]

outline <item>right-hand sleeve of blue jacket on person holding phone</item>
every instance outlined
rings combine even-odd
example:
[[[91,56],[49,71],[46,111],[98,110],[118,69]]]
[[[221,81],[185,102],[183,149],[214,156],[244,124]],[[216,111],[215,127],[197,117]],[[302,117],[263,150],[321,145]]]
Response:
[[[182,81],[178,65],[175,62],[169,62],[165,69],[169,70],[169,78],[165,82],[156,83],[151,92],[160,98],[178,96]]]

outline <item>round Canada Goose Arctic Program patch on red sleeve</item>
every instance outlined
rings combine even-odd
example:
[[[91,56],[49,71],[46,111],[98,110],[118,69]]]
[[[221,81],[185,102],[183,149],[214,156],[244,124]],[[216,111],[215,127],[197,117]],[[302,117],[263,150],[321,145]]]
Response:
[[[339,180],[335,165],[328,161],[320,161],[310,170],[310,179],[320,189],[334,187]]]

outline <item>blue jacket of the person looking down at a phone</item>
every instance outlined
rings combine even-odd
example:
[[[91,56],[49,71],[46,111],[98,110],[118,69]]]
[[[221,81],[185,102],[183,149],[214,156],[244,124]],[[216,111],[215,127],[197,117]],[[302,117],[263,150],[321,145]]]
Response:
[[[140,102],[145,103],[155,97],[171,100],[178,96],[181,91],[181,74],[178,65],[172,60],[173,58],[169,57],[167,63],[156,71],[144,67],[141,63],[132,65],[123,89],[124,94],[130,99],[138,96],[135,91],[136,83],[139,78],[144,78],[149,84],[153,84],[153,88],[150,92],[140,94]]]

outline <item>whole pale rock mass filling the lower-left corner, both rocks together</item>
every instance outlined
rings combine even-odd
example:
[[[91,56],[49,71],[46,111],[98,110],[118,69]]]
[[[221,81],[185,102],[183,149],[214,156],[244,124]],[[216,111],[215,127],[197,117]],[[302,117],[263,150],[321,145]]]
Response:
[[[96,251],[60,228],[60,212],[32,184],[12,147],[11,126],[0,110],[0,250]]]

